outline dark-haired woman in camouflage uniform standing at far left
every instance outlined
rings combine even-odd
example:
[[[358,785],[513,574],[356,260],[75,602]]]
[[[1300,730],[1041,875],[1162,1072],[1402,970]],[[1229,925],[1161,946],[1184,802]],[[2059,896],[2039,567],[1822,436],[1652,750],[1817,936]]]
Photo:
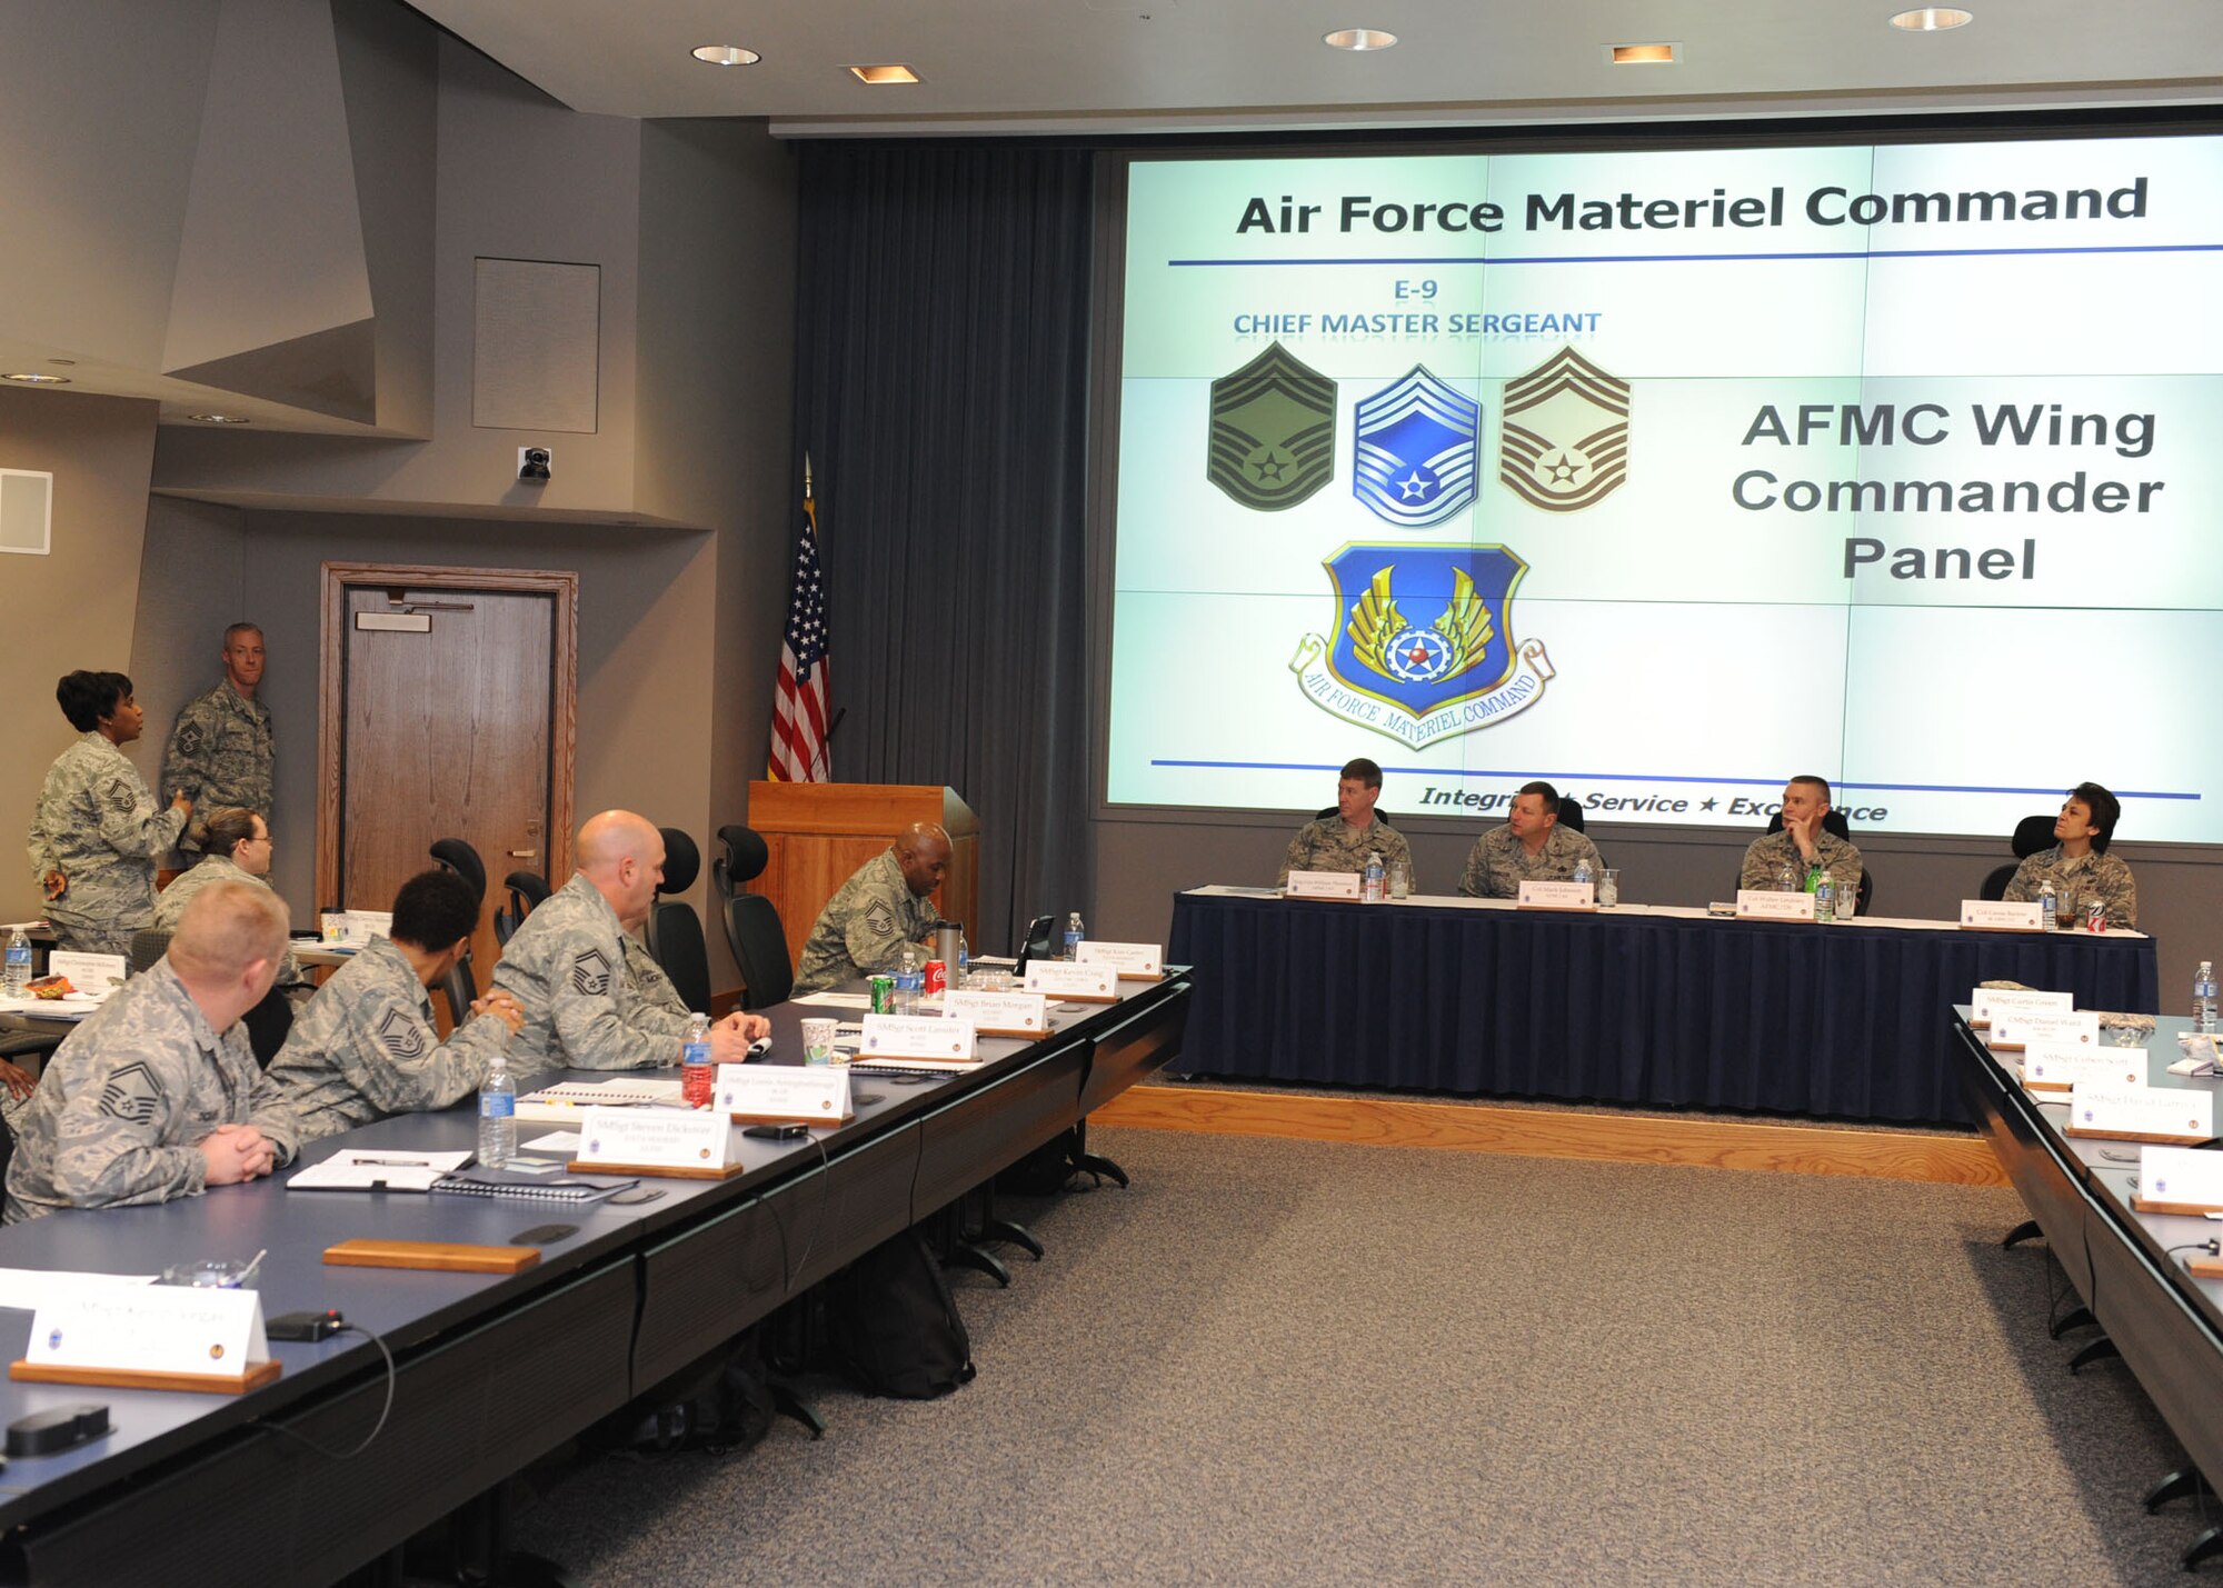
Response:
[[[64,947],[129,954],[131,934],[153,921],[156,861],[178,841],[193,805],[156,810],[124,758],[120,745],[144,723],[129,678],[73,672],[56,698],[82,736],[56,756],[38,792],[31,874]]]

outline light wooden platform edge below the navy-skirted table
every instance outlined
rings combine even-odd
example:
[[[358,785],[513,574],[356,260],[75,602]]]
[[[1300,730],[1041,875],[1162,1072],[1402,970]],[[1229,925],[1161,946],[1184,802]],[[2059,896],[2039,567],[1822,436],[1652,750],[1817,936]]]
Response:
[[[2005,1185],[1981,1137],[1832,1130],[1598,1110],[1487,1108],[1403,1096],[1300,1096],[1205,1085],[1138,1085],[1094,1114],[1103,1125],[1289,1137],[1376,1148],[1514,1152],[1605,1163],[1687,1163],[1783,1174],[1858,1174],[1947,1185]]]

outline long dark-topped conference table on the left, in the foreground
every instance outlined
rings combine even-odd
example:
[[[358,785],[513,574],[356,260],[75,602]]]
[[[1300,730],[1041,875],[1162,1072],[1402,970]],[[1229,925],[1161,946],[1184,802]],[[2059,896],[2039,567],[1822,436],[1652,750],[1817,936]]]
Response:
[[[111,1432],[0,1470],[0,1581],[325,1584],[494,1490],[596,1419],[700,1359],[887,1237],[936,1214],[1178,1054],[1187,972],[1123,983],[1112,1005],[1051,1005],[1034,1041],[980,1039],[983,1063],[903,1083],[856,1076],[856,1116],[805,1141],[742,1139],[725,1181],[642,1179],[640,1205],[253,1185],[153,1208],[60,1212],[0,1230],[0,1350],[31,1312],[7,1270],[156,1274],[193,1259],[262,1263],[265,1317],[338,1308],[393,1352],[385,1428],[351,1459],[389,1390],[360,1334],[271,1341],[282,1374],[247,1395],[0,1386],[0,1423],[104,1401]],[[769,1010],[771,1061],[798,1021]],[[536,1085],[607,1072],[558,1072]],[[869,1099],[869,1101],[865,1101]],[[520,1123],[534,1139],[558,1125]],[[469,1150],[471,1103],[311,1143]],[[300,1165],[296,1165],[300,1168]],[[516,1274],[336,1268],[356,1237],[502,1245],[576,1223]],[[305,1441],[316,1441],[309,1446]]]

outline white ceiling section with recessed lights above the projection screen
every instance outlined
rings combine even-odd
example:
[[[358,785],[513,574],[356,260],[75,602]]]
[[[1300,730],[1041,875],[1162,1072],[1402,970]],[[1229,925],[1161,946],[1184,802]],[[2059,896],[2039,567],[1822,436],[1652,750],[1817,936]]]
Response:
[[[787,136],[1487,125],[2223,100],[2216,0],[411,0],[578,111],[767,116]],[[1354,56],[1338,27],[1396,33]],[[1674,42],[1674,67],[1609,44]],[[754,67],[707,67],[742,44]],[[849,64],[923,82],[867,87]]]

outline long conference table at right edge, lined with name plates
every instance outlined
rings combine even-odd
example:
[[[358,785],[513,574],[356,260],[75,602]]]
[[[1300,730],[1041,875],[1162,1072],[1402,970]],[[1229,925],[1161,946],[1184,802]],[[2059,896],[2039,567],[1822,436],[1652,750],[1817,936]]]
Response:
[[[2190,1021],[2167,1019],[2156,1028],[2145,1045],[2147,1085],[2205,1092],[2223,1085],[2170,1074],[2176,1034]],[[2179,1259],[2223,1225],[2132,1208],[2136,1143],[2065,1134],[2067,1099],[2025,1092],[2016,1072],[1970,1030],[1965,1008],[1954,1010],[1945,1030],[1970,1116],[2076,1288],[2083,1314],[2105,1330],[2105,1343],[2085,1346],[2076,1363],[2110,1350],[2121,1354],[2192,1459],[2190,1470],[2154,1488],[2147,1506],[2194,1492],[2194,1472],[2223,1472],[2223,1279],[2199,1279]],[[2185,1566],[2216,1552],[2223,1528],[2210,1526],[2185,1550]]]

